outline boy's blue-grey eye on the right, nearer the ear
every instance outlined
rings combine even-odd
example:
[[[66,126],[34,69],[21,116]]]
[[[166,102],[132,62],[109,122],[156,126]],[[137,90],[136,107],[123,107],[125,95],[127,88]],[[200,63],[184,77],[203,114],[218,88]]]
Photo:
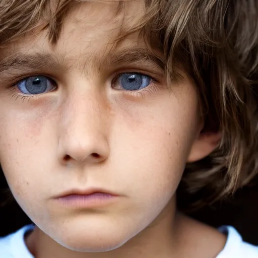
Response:
[[[150,85],[152,79],[148,75],[139,73],[124,73],[119,75],[119,86],[127,91],[137,91]]]

